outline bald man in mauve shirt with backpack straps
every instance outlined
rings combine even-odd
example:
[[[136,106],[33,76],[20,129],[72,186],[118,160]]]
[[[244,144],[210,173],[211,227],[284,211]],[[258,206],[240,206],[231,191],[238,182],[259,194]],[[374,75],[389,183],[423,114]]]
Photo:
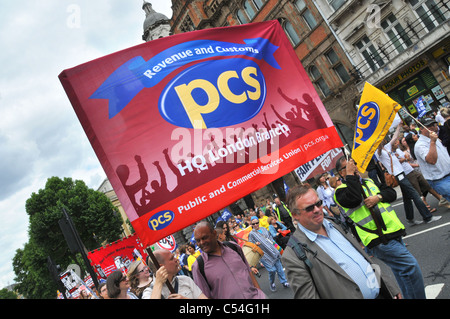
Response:
[[[194,238],[202,253],[192,265],[192,275],[208,298],[266,298],[239,245],[218,241],[216,231],[208,222],[200,222],[195,227]]]

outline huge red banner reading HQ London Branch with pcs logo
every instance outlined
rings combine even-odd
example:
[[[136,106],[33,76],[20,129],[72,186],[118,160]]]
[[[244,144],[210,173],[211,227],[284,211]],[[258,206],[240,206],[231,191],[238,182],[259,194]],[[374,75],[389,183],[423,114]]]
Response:
[[[173,35],[59,78],[144,246],[342,146],[277,21]]]

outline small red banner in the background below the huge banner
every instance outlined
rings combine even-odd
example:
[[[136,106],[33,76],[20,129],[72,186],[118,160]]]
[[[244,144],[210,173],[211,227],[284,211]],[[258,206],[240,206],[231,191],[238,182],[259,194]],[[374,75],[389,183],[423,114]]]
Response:
[[[106,279],[115,270],[125,270],[138,258],[145,262],[147,253],[138,236],[133,234],[105,247],[88,252],[88,258],[98,275],[98,279]]]

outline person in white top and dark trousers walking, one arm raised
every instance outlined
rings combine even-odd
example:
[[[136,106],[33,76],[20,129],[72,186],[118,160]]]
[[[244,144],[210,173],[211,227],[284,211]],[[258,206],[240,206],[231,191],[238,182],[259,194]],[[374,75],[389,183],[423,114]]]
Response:
[[[377,158],[389,172],[395,176],[400,185],[400,190],[403,196],[403,205],[405,208],[405,214],[408,224],[417,225],[421,224],[421,221],[414,220],[414,207],[412,202],[416,205],[420,215],[422,215],[423,221],[425,223],[431,223],[439,220],[442,216],[432,216],[430,210],[427,208],[423,202],[420,194],[414,189],[409,180],[406,178],[406,174],[410,172],[405,172],[403,170],[402,164],[392,152],[392,144],[398,139],[400,133],[401,124],[398,125],[395,130],[392,139],[389,142],[382,141],[378,146]],[[392,166],[391,166],[392,162]],[[439,192],[439,191],[438,191]]]

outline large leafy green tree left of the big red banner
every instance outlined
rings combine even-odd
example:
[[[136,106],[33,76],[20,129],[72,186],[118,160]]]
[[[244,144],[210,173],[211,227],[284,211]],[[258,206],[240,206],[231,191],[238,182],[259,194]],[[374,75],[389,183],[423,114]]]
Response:
[[[29,242],[23,250],[16,251],[13,260],[16,282],[19,282],[17,289],[26,298],[56,296],[56,285],[47,269],[47,256],[63,269],[78,263],[58,224],[63,208],[72,218],[88,251],[121,237],[120,214],[103,193],[88,188],[81,180],[49,178],[45,188],[32,193],[26,201]]]

